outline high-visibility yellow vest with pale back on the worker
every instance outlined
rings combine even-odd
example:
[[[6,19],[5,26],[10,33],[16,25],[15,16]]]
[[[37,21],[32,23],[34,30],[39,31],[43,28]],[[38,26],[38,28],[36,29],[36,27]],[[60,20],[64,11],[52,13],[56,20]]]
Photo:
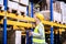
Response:
[[[41,26],[41,24],[42,24],[42,23],[40,23],[40,24],[35,28],[34,33],[38,33],[38,28]],[[42,36],[43,38],[38,38],[37,36],[36,36],[36,37],[33,36],[33,43],[41,43],[41,44],[42,44],[42,43],[45,43],[44,26],[42,26],[42,28],[43,28],[43,31],[42,31],[42,32],[44,33],[43,36]]]

